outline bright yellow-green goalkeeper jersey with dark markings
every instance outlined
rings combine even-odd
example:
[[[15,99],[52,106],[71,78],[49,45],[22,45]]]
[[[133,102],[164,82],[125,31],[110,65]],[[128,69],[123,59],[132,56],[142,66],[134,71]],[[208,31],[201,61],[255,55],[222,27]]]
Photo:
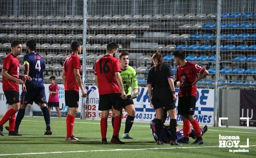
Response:
[[[127,66],[126,70],[121,69],[121,78],[123,80],[123,85],[125,88],[125,93],[126,95],[131,95],[130,93],[130,83],[131,83],[131,88],[138,88],[138,81],[137,81],[137,74],[136,71],[131,67]]]

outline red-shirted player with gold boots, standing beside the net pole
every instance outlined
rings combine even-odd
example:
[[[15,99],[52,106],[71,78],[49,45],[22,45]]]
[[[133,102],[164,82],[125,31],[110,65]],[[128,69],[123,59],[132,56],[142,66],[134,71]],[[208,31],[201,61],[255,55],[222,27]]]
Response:
[[[68,106],[68,115],[66,117],[66,141],[77,142],[79,139],[73,136],[73,128],[74,120],[78,112],[79,87],[82,91],[82,97],[86,97],[87,93],[83,88],[80,76],[81,63],[78,55],[81,54],[81,44],[78,41],[73,41],[70,46],[72,54],[65,60],[64,70],[62,72],[62,80],[65,88],[65,103],[66,106]]]

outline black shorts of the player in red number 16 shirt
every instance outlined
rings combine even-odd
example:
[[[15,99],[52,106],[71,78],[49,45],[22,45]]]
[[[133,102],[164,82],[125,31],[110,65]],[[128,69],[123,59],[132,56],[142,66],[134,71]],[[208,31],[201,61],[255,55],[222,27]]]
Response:
[[[100,95],[99,108],[100,111],[110,110],[112,106],[114,109],[120,109],[123,107],[123,99],[120,97],[121,93],[110,93]]]

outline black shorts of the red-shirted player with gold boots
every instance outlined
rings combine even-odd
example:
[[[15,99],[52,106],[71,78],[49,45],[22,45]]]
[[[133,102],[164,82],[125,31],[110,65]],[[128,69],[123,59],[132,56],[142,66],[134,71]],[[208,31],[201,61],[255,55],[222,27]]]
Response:
[[[65,90],[65,104],[68,107],[78,107],[79,92],[75,90]]]

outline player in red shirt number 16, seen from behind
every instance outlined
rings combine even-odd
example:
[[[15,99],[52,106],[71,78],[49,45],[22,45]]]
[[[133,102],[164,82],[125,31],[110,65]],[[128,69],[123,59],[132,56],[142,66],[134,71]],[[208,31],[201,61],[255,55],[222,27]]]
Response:
[[[99,89],[100,102],[99,110],[102,111],[100,120],[100,130],[102,136],[101,144],[107,144],[107,119],[108,112],[112,108],[115,109],[116,117],[114,119],[114,131],[111,138],[113,144],[124,144],[119,138],[119,130],[121,127],[122,115],[122,99],[126,99],[119,60],[115,58],[119,46],[114,43],[108,43],[107,54],[98,59],[95,63],[95,84]],[[121,91],[120,91],[121,89]]]

